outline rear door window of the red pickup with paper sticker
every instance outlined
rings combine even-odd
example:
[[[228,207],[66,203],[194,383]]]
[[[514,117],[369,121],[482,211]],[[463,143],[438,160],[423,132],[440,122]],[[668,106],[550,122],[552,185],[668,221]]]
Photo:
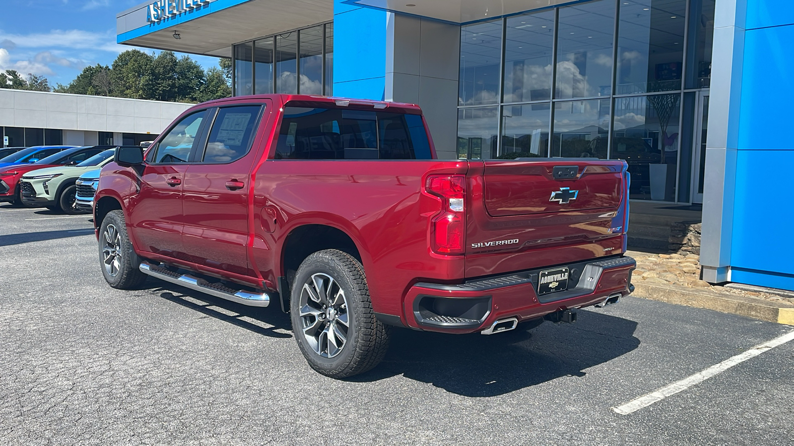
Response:
[[[260,106],[240,106],[218,110],[202,162],[231,163],[245,156],[251,148],[260,109]]]

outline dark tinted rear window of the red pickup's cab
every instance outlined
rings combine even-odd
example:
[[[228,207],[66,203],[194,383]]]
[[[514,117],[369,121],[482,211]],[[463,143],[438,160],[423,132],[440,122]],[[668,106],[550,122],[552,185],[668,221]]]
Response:
[[[430,160],[430,141],[414,114],[284,107],[276,159]]]

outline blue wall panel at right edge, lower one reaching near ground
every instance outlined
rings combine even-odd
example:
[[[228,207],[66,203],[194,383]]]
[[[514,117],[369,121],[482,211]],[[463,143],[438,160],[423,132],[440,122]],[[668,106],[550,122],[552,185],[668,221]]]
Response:
[[[739,150],[736,166],[730,266],[757,274],[732,272],[731,279],[769,271],[769,281],[781,285],[776,288],[794,289],[794,150]]]

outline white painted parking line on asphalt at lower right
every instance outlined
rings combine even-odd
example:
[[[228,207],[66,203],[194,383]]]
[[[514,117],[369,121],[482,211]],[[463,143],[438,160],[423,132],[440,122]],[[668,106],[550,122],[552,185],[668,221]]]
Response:
[[[761,353],[766,352],[767,350],[770,350],[772,348],[775,348],[778,345],[785,344],[792,339],[794,339],[794,332],[788,332],[783,336],[778,336],[775,339],[770,340],[769,342],[756,345],[754,348],[750,348],[750,350],[744,353],[740,353],[736,356],[725,359],[723,362],[708,367],[706,370],[700,371],[695,375],[681,379],[677,383],[670,384],[669,386],[664,386],[661,389],[658,389],[654,392],[651,392],[646,395],[642,395],[642,397],[627,402],[622,406],[613,407],[612,410],[615,410],[615,412],[620,413],[621,415],[628,415],[629,413],[636,412],[637,410],[642,409],[643,407],[652,405],[654,402],[660,402],[661,400],[671,395],[677,394],[678,392],[683,390],[687,390],[689,387],[692,387],[699,383],[703,383],[703,381],[711,378],[712,376],[718,375],[723,371],[728,370],[730,367],[734,367],[734,365],[738,363],[743,363],[747,359],[761,355]]]

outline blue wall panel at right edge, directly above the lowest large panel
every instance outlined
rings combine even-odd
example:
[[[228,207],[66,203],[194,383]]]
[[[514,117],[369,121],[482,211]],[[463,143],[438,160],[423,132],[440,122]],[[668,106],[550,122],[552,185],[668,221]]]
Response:
[[[745,33],[739,149],[794,150],[794,25]]]

